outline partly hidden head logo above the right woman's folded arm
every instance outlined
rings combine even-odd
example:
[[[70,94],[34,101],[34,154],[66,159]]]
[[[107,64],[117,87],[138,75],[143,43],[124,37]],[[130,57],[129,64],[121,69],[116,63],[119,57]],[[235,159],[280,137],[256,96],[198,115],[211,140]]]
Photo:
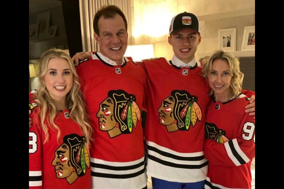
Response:
[[[205,123],[205,138],[213,139],[219,144],[224,144],[225,142],[230,141],[226,136],[226,131],[219,129],[214,123]]]

